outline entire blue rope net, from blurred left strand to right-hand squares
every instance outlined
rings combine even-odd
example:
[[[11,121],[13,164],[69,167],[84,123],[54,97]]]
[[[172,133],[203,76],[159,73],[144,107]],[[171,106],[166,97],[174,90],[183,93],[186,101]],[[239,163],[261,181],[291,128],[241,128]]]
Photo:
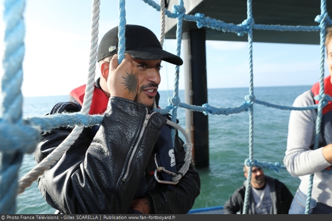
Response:
[[[143,0],[151,5],[157,11],[160,6],[153,0]],[[124,27],[125,27],[125,0],[119,0],[119,61],[124,57]],[[1,105],[0,105],[0,214],[15,213],[15,198],[17,195],[17,177],[18,170],[22,163],[24,153],[32,153],[41,139],[40,132],[50,131],[60,126],[92,126],[102,122],[102,116],[84,115],[81,113],[59,114],[48,117],[34,117],[30,119],[22,119],[22,93],[21,84],[23,79],[22,61],[24,57],[24,35],[25,25],[23,20],[23,10],[25,0],[4,0],[3,20],[5,23],[4,45],[5,51],[2,58],[3,76],[1,78]],[[321,0],[321,14],[317,15],[315,21],[318,26],[279,26],[279,25],[259,25],[255,24],[252,16],[252,0],[247,0],[247,19],[241,24],[227,24],[220,20],[206,17],[204,14],[197,13],[195,15],[185,14],[183,0],[179,0],[179,5],[173,5],[173,12],[165,10],[165,14],[169,18],[178,19],[177,23],[177,52],[180,56],[181,52],[181,33],[182,21],[196,22],[198,28],[208,27],[221,30],[224,32],[233,32],[238,36],[247,34],[248,36],[248,54],[249,54],[249,95],[245,97],[245,101],[236,107],[212,107],[209,104],[202,106],[193,106],[181,103],[179,98],[179,73],[180,67],[176,66],[174,93],[169,98],[169,105],[165,109],[157,110],[162,114],[169,113],[172,110],[172,121],[176,122],[177,110],[179,107],[191,111],[201,111],[204,114],[223,114],[229,115],[249,111],[249,158],[245,160],[245,164],[250,166],[248,182],[244,200],[244,214],[247,213],[248,194],[250,190],[251,170],[252,166],[260,166],[275,171],[285,169],[280,163],[259,162],[253,157],[253,107],[254,104],[260,104],[280,110],[318,110],[316,122],[316,137],[314,149],[318,147],[318,135],[320,134],[320,125],[322,119],[322,109],[332,101],[332,98],[324,94],[324,52],[325,52],[325,28],[326,25],[332,24],[327,13],[326,0]],[[290,107],[271,104],[260,101],[255,98],[253,86],[253,29],[261,30],[278,30],[278,31],[320,31],[320,93],[315,97],[319,101],[318,105],[308,107]],[[172,132],[174,138],[175,130]],[[307,195],[306,211],[309,212],[309,202],[312,191],[313,174],[310,176],[310,185]]]

